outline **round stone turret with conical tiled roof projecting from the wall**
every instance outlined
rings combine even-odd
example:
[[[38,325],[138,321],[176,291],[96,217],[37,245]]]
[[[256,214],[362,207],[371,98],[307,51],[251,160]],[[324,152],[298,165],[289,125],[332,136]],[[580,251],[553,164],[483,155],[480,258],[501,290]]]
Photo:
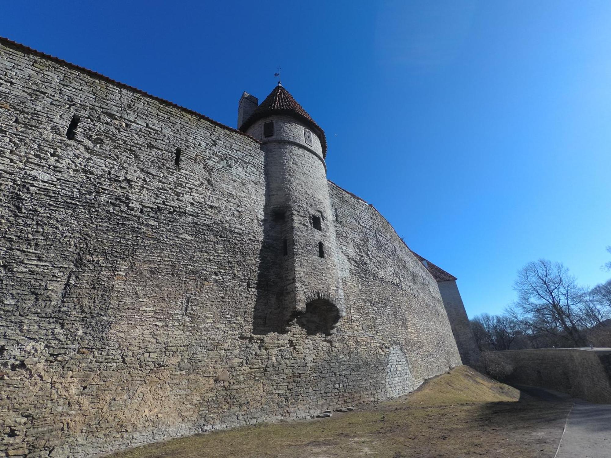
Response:
[[[255,332],[284,332],[296,324],[329,334],[345,313],[323,129],[279,83],[240,130],[260,140],[265,152]]]

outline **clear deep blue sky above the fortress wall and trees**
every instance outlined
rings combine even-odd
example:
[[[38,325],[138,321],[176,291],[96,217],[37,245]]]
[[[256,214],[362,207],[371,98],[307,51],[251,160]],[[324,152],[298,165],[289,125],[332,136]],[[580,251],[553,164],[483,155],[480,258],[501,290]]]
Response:
[[[235,126],[284,86],[329,178],[459,278],[469,316],[516,271],[611,277],[611,2],[20,1],[0,35]]]

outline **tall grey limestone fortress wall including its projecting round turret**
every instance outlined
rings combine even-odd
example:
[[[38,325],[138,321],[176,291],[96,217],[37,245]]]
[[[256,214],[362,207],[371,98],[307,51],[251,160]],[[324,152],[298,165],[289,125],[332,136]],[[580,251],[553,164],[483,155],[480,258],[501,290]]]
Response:
[[[392,398],[461,364],[452,330],[470,355],[462,301],[327,181],[290,93],[244,93],[238,118],[0,40],[0,453]]]

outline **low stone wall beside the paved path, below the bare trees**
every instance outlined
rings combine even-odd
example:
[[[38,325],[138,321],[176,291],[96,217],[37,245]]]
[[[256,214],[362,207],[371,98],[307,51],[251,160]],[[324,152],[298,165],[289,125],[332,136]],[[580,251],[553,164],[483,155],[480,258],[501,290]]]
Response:
[[[611,403],[611,349],[536,349],[496,352],[513,366],[508,383],[571,394],[590,402]]]

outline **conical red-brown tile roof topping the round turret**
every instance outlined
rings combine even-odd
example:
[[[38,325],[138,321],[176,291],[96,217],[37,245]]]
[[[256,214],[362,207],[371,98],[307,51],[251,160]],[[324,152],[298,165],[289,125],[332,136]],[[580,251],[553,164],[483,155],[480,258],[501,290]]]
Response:
[[[252,115],[240,126],[240,130],[246,132],[249,127],[261,118],[277,114],[290,115],[307,124],[320,138],[321,147],[323,147],[323,157],[327,156],[327,139],[324,136],[323,129],[314,122],[312,117],[297,103],[288,90],[284,89],[280,84],[274,88]]]

